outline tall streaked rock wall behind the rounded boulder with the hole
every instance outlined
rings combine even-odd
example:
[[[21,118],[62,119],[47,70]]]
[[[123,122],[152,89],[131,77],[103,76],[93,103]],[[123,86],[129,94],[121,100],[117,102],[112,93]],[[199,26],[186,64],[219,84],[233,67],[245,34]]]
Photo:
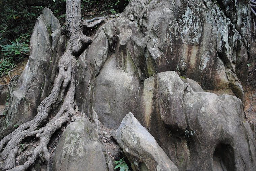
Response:
[[[117,129],[126,113],[136,116],[143,80],[165,71],[195,80],[203,89],[230,87],[242,99],[239,80],[247,77],[249,6],[240,0],[129,2],[79,57],[79,109],[87,116],[94,110],[103,124]],[[203,91],[192,82],[194,91]]]

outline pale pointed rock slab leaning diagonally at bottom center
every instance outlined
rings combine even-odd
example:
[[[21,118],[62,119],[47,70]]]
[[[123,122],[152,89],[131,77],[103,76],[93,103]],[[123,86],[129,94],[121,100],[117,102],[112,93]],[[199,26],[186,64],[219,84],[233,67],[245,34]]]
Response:
[[[178,171],[150,133],[129,113],[117,129],[117,142],[134,171]]]

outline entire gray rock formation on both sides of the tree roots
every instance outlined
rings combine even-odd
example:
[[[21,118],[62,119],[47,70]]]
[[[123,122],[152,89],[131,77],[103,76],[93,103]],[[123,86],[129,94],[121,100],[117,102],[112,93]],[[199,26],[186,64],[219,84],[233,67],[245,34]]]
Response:
[[[27,67],[9,85],[11,102],[0,123],[1,136],[9,135],[0,141],[0,158],[11,162],[0,161],[0,168],[18,170],[29,161],[15,167],[15,156],[7,153],[18,153],[12,135],[22,130],[41,138],[43,131],[55,124],[60,128],[74,115],[56,152],[38,153],[46,161],[55,154],[54,170],[93,170],[92,159],[101,161],[100,170],[113,170],[99,139],[102,126],[117,129],[113,138],[133,170],[255,170],[256,144],[245,121],[241,84],[250,57],[250,9],[244,0],[131,0],[119,17],[98,28],[88,49],[81,50],[82,38],[67,43],[72,67],[66,63],[62,69],[70,79],[62,80],[64,89],[46,110],[59,119],[36,129],[38,124],[21,123],[40,117],[37,108],[43,112],[39,104],[55,90],[65,45],[58,20],[45,9],[34,28]],[[75,30],[68,30],[72,38]],[[228,87],[236,97],[203,91]],[[77,117],[78,109],[91,122]]]

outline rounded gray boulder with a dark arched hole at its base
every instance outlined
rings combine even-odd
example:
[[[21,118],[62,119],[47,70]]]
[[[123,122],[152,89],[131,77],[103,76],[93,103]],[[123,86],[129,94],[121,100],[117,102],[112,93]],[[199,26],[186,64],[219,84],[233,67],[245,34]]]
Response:
[[[144,80],[140,106],[138,120],[179,170],[255,170],[256,145],[237,97],[194,92],[170,71]]]

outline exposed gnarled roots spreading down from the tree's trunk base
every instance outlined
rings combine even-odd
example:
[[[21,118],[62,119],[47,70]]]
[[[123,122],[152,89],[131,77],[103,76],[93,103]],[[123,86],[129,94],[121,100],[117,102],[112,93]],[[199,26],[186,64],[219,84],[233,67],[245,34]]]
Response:
[[[67,55],[66,53],[68,53],[69,55]],[[36,159],[39,157],[40,154],[42,154],[44,160],[46,161],[47,170],[51,170],[51,155],[47,149],[49,140],[54,132],[58,130],[62,126],[62,124],[68,121],[68,116],[71,116],[75,112],[72,104],[74,102],[75,94],[76,61],[75,57],[73,55],[70,55],[70,52],[67,51],[66,53],[63,55],[63,59],[61,60],[62,62],[59,66],[60,72],[55,79],[54,87],[51,91],[51,94],[46,97],[38,106],[38,114],[36,115],[36,117],[32,121],[22,124],[14,132],[7,135],[0,141],[0,147],[1,149],[3,149],[3,151],[1,152],[1,161],[4,161],[0,162],[1,170],[11,169],[17,171],[24,171],[35,163]],[[65,63],[67,65],[65,65]],[[65,67],[67,67],[67,71],[65,71]],[[45,127],[36,130],[39,126],[45,123],[51,108],[58,101],[60,92],[65,92],[65,89],[68,86],[69,82],[71,83],[68,88],[67,95],[57,115],[53,118],[51,122],[47,123]],[[64,113],[65,111],[67,112]],[[63,113],[64,115],[61,116]],[[29,130],[26,130],[28,128]],[[40,138],[40,144],[34,149],[34,151],[29,154],[27,161],[23,165],[15,167],[15,160],[21,142],[24,138],[33,137],[35,135],[37,138]],[[6,147],[3,148],[6,143]]]

